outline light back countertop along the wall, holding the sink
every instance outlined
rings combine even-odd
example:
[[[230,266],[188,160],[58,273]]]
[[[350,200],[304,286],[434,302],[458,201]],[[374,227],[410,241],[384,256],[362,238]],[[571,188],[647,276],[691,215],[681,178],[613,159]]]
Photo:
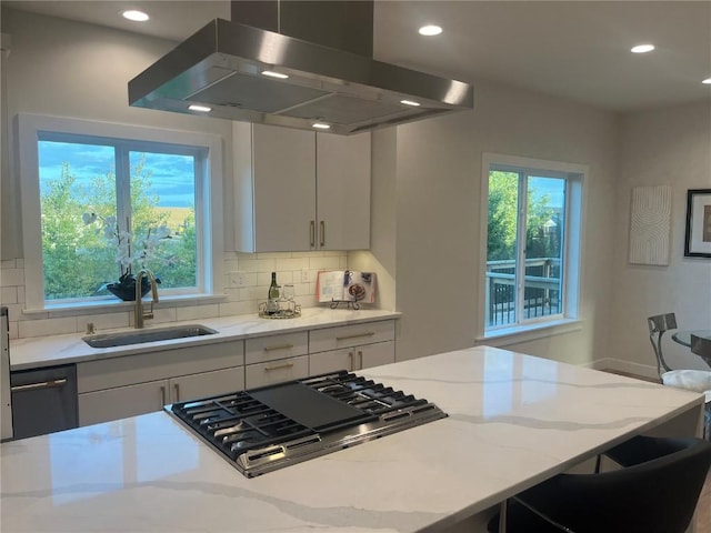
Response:
[[[217,319],[200,319],[184,322],[171,322],[147,325],[143,331],[167,328],[171,325],[202,324],[217,330],[212,335],[174,339],[170,341],[147,342],[116,348],[91,348],[82,341],[82,333],[63,335],[33,336],[10,340],[11,370],[33,369],[52,364],[77,363],[96,359],[117,358],[137,353],[170,350],[184,345],[212,344],[216,342],[237,341],[254,336],[273,335],[296,331],[313,330],[336,325],[357,324],[378,320],[397,319],[401,315],[394,311],[349,309],[307,308],[298,319],[271,320],[257,314],[240,314]],[[133,328],[102,330],[101,333],[117,333],[121,331],[138,331]]]

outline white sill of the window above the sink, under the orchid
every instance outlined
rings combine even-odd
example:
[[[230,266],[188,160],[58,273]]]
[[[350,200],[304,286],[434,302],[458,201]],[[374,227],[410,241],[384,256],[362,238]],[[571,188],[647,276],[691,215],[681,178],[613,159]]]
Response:
[[[160,308],[177,308],[179,305],[202,305],[207,303],[220,303],[227,300],[224,294],[180,294],[160,296],[160,301],[156,304]],[[143,305],[149,305],[150,299],[143,300]],[[100,300],[97,302],[82,303],[60,303],[49,304],[40,309],[24,309],[22,314],[26,315],[47,315],[50,316],[72,316],[77,314],[98,314],[107,312],[128,311],[136,306],[136,302],[123,302],[120,300]]]

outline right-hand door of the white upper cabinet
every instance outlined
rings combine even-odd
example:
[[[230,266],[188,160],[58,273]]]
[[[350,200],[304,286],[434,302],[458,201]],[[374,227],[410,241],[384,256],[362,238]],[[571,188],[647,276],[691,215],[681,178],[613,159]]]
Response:
[[[317,133],[318,248],[370,248],[370,133]]]

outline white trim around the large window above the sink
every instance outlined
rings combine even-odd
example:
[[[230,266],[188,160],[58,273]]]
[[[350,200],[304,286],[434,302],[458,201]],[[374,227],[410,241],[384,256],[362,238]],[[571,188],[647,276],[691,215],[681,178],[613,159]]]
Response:
[[[26,312],[51,311],[54,308],[68,309],[72,305],[44,302],[42,283],[42,229],[40,221],[39,154],[38,141],[41,131],[71,133],[77,135],[107,139],[130,139],[156,143],[186,144],[204,148],[209,151],[208,169],[203,169],[209,179],[202,184],[203,197],[196,198],[196,215],[202,217],[206,230],[206,250],[203,258],[209,258],[210,268],[199,281],[202,284],[201,295],[222,293],[223,229],[222,229],[222,139],[209,133],[166,130],[130,124],[98,122],[63,117],[39,114],[18,114],[19,171],[21,182],[22,243],[24,254],[24,305]],[[200,263],[199,263],[200,264]],[[201,268],[202,265],[200,265]],[[187,294],[194,299],[196,294]],[[172,298],[171,301],[179,301]],[[114,305],[120,301],[112,302]],[[109,304],[109,302],[102,302]],[[78,302],[76,308],[86,306]]]

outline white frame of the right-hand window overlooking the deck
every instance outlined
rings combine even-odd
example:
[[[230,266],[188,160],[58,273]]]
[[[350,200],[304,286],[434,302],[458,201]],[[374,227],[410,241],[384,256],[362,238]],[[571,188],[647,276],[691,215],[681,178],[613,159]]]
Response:
[[[488,243],[488,225],[489,225],[489,175],[492,170],[503,170],[512,172],[525,172],[542,177],[563,178],[565,179],[565,213],[563,227],[563,250],[562,260],[563,269],[562,292],[563,301],[561,302],[562,311],[560,314],[545,315],[535,319],[524,319],[523,321],[517,313],[517,321],[497,328],[487,326],[487,243]],[[481,219],[480,219],[480,265],[481,275],[479,283],[478,299],[478,336],[479,341],[490,341],[498,338],[507,338],[510,335],[521,335],[554,326],[570,326],[578,322],[580,315],[580,288],[582,284],[581,271],[581,251],[582,251],[582,228],[584,224],[584,205],[587,175],[589,169],[587,165],[577,163],[567,163],[561,161],[540,160],[517,155],[508,155],[501,153],[483,153],[482,157],[482,179],[481,179]],[[519,200],[521,194],[525,198],[525,191],[519,190]],[[524,210],[517,207],[518,224]],[[517,243],[517,266],[520,261],[521,249],[523,244]],[[518,269],[517,269],[518,270]],[[522,288],[517,288],[517,292]],[[538,338],[540,335],[533,335]]]

